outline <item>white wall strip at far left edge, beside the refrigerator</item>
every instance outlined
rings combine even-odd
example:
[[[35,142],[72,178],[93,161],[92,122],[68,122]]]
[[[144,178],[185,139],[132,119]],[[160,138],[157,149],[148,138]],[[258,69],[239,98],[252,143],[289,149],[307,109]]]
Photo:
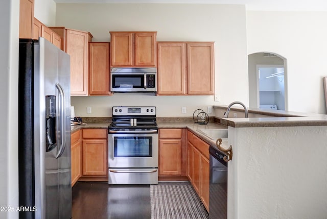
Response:
[[[19,1],[4,0],[0,7],[0,206],[18,206],[18,32]],[[0,211],[0,218],[18,212]]]

